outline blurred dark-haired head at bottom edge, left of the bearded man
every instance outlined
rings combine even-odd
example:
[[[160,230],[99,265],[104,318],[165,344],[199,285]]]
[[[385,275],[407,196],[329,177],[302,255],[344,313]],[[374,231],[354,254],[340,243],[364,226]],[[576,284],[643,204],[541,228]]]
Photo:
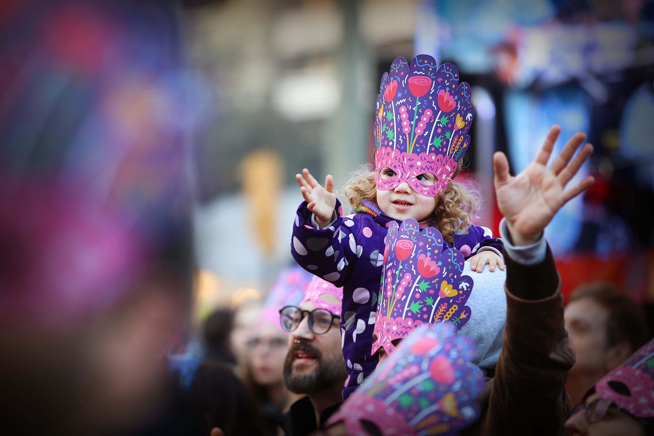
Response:
[[[254,398],[225,363],[200,363],[190,397],[207,436],[214,428],[220,428],[225,436],[266,434]]]

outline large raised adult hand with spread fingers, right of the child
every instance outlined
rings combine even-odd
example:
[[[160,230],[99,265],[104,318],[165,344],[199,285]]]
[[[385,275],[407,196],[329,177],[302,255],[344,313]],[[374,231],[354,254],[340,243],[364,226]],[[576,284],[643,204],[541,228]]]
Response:
[[[549,168],[546,166],[560,132],[559,126],[551,127],[536,158],[515,177],[509,175],[509,162],[504,153],[496,152],[493,156],[497,205],[506,218],[509,233],[516,245],[538,241],[545,226],[561,207],[594,183],[593,176],[587,176],[576,186],[564,189],[584,161],[593,154],[593,146],[585,144],[572,159],[586,139],[582,132],[575,133],[552,165]]]

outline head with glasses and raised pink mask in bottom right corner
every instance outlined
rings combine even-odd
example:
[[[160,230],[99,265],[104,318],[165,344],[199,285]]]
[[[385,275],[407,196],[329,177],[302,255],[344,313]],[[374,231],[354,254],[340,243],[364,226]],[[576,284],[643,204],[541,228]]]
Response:
[[[654,340],[602,377],[566,421],[571,436],[654,435]]]

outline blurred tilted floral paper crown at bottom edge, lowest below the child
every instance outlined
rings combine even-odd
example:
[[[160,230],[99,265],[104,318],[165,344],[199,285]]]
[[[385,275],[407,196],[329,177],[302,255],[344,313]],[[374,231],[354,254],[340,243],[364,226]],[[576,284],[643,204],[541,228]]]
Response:
[[[474,344],[454,328],[423,326],[382,361],[327,426],[343,421],[351,436],[457,434],[479,416],[481,370]]]

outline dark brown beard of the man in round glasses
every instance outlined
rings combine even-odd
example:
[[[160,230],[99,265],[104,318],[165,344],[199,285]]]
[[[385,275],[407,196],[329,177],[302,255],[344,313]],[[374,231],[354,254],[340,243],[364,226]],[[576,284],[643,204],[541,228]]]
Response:
[[[296,351],[303,351],[313,354],[316,359],[316,369],[312,373],[296,375],[293,374],[293,362],[295,361]],[[294,394],[316,394],[337,384],[342,385],[347,377],[345,371],[345,362],[341,354],[337,358],[323,361],[322,353],[318,348],[310,344],[300,343],[293,344],[292,348],[286,354],[284,362],[284,383],[286,388]]]

